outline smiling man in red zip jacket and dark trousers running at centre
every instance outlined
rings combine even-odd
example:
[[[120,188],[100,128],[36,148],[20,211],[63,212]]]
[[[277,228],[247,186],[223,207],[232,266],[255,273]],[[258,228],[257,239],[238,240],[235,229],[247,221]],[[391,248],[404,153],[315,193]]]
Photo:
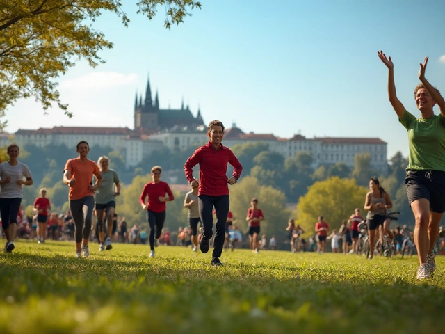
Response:
[[[198,182],[193,177],[193,167],[200,164],[200,184],[198,188],[199,209],[202,225],[202,238],[200,249],[202,253],[209,251],[209,240],[213,234],[213,216],[212,211],[216,211],[216,234],[213,241],[213,255],[211,264],[220,266],[220,256],[223,252],[225,240],[225,223],[227,214],[229,214],[229,186],[235,184],[241,176],[243,167],[241,166],[235,154],[223,146],[224,125],[219,120],[210,122],[207,129],[207,136],[210,141],[207,145],[201,146],[195,150],[195,153],[189,157],[184,164],[188,184],[198,186]],[[227,164],[234,167],[232,177],[227,179]]]

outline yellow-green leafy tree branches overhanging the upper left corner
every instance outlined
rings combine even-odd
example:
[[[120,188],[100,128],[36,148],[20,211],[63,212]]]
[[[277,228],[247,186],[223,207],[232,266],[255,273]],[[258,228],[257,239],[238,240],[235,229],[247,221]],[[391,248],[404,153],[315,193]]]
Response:
[[[184,22],[188,10],[201,8],[195,0],[140,0],[137,13],[152,19],[165,8],[165,27]],[[0,111],[21,97],[34,97],[44,109],[60,101],[57,78],[79,59],[95,67],[104,63],[99,51],[113,43],[95,29],[95,20],[115,13],[124,26],[129,18],[120,0],[0,1]]]

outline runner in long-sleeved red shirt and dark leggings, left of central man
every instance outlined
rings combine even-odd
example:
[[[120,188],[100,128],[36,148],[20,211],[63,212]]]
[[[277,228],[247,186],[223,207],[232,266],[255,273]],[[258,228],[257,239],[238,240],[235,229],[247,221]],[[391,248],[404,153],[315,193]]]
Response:
[[[150,226],[149,241],[151,252],[149,257],[154,257],[154,239],[157,241],[161,237],[165,221],[165,202],[175,199],[167,182],[161,181],[161,173],[161,166],[154,166],[152,168],[152,182],[145,184],[140,194],[140,205],[147,211],[147,221]],[[166,194],[168,197],[165,197]],[[148,202],[145,204],[147,196]]]

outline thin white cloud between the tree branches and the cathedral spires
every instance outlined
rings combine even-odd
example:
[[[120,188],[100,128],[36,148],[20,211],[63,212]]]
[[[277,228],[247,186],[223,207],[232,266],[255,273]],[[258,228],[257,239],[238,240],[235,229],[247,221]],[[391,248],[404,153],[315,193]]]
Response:
[[[122,74],[117,72],[91,72],[82,77],[68,79],[60,83],[60,88],[94,88],[102,89],[116,86],[126,86],[138,79],[137,74]]]

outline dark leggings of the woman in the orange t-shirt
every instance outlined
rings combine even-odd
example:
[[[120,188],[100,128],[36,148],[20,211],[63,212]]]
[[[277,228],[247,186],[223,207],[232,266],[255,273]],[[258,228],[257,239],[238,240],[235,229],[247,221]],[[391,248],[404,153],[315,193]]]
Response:
[[[90,239],[92,210],[95,208],[95,198],[85,196],[79,200],[70,200],[70,211],[74,221],[74,234],[76,242]]]

